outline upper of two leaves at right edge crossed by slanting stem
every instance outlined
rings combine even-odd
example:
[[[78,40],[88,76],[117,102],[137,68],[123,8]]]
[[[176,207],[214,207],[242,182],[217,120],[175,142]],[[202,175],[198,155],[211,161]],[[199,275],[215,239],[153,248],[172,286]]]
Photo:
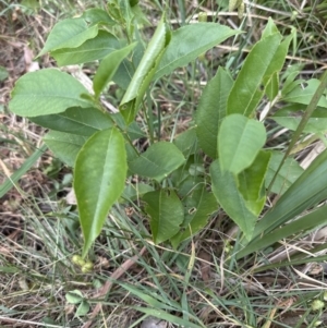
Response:
[[[308,80],[304,83],[305,87],[302,85],[293,88],[289,94],[287,94],[282,100],[288,102],[296,102],[308,105],[318,86],[320,85],[320,81],[316,78]],[[318,101],[319,107],[327,108],[327,99],[326,97],[322,97]]]

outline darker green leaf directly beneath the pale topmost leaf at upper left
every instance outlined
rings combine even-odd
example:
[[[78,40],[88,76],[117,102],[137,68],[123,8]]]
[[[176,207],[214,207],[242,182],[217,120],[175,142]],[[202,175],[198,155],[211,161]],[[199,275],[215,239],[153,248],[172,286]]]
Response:
[[[105,58],[120,49],[120,42],[111,33],[99,31],[98,35],[76,48],[51,51],[59,66],[82,64]]]

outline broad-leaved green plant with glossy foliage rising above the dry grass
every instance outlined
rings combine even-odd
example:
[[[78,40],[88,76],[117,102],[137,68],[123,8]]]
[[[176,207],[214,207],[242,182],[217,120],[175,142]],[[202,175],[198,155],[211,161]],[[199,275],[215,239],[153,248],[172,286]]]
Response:
[[[230,5],[240,10],[242,3]],[[308,230],[313,222],[322,223],[318,214],[325,214],[325,207],[308,214],[312,222],[300,219],[283,226],[327,198],[322,178],[327,177],[327,151],[305,171],[289,157],[301,133],[327,130],[327,77],[310,80],[303,87],[303,81],[295,80],[295,66],[280,78],[293,31],[283,38],[270,19],[235,80],[229,70],[218,68],[202,93],[195,124],[182,133],[177,129],[168,142],[153,129],[154,114],[147,107],[154,101],[152,83],[241,32],[206,22],[170,32],[164,14],[144,47],[137,31],[144,23],[137,1],[119,0],[108,1],[107,10],[92,9],[58,23],[39,56],[49,52],[59,65],[99,61],[94,93],[55,69],[27,73],[12,92],[10,109],[50,129],[46,145],[74,168],[83,257],[117,202],[141,199],[154,242],[169,241],[174,248],[221,208],[242,232],[239,258]],[[112,83],[125,90],[114,114],[101,106]],[[266,117],[296,131],[284,154],[266,147],[265,122],[256,119],[265,96],[271,106],[278,105]],[[147,125],[141,127],[137,114]],[[133,141],[145,136],[148,146],[141,151]],[[125,186],[126,178],[137,179],[137,184],[130,181]],[[280,198],[263,212],[271,193]],[[83,308],[81,313],[86,313]]]

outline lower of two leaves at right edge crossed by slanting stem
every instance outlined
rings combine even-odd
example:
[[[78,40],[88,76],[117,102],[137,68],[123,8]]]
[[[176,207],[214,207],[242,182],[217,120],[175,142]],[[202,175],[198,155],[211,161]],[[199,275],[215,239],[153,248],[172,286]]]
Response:
[[[302,120],[302,116],[306,110],[305,105],[293,104],[279,109],[271,119],[281,126],[295,131]],[[303,132],[306,133],[325,133],[327,131],[327,111],[326,108],[317,107],[307,123],[305,124]]]

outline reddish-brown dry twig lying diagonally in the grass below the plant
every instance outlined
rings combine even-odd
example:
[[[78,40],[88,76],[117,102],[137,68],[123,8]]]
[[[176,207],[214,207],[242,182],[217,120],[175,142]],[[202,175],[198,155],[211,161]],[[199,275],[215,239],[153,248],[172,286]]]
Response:
[[[93,296],[94,299],[98,299],[101,296],[105,296],[111,289],[113,284],[113,280],[118,280],[126,270],[130,269],[130,267],[135,264],[135,262],[144,254],[146,251],[146,247],[144,246],[140,254],[134,255],[132,258],[129,258],[126,262],[124,262],[111,276],[110,280],[108,280],[100,290]],[[82,328],[88,328],[92,325],[93,318],[101,311],[102,304],[99,302],[96,307],[94,308],[93,313],[90,314],[90,318],[88,321],[86,321]]]

